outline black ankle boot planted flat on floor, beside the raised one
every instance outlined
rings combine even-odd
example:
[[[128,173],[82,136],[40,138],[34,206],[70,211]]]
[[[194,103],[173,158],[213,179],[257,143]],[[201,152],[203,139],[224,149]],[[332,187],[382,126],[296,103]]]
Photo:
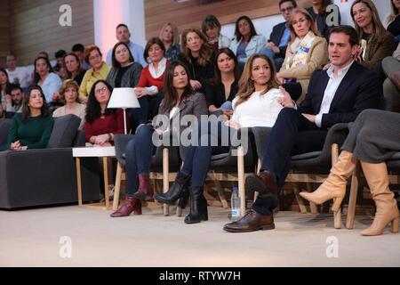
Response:
[[[196,224],[208,220],[207,200],[203,196],[203,186],[190,187],[190,213],[185,216],[185,224]]]

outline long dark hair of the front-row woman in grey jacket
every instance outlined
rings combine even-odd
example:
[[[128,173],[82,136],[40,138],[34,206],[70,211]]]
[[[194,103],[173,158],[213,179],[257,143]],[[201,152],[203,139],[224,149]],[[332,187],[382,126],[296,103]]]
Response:
[[[183,91],[181,100],[188,96],[189,94],[193,94],[194,90],[190,85],[190,75],[188,73],[188,67],[182,61],[172,61],[167,68],[165,69],[164,76],[164,99],[163,99],[163,112],[169,112],[172,110],[173,106],[178,102],[178,93],[176,92],[175,87],[173,86],[173,73],[177,66],[183,67],[185,69],[186,74],[188,75],[188,85],[186,85],[185,90]]]

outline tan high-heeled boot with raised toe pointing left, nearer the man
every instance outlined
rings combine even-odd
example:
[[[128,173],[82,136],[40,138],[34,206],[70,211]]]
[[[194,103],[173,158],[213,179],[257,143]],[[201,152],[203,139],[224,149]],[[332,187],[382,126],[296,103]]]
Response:
[[[348,151],[341,151],[338,161],[331,168],[331,173],[316,191],[300,192],[300,196],[316,204],[322,204],[328,199],[335,199],[332,211],[339,211],[341,201],[346,194],[348,177],[356,168],[357,159]]]

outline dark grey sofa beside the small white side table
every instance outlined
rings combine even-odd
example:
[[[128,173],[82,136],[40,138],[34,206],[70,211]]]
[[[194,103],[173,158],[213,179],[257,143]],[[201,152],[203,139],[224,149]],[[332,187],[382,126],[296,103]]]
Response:
[[[84,146],[80,118],[54,119],[46,149],[0,152],[0,209],[52,206],[77,202],[76,162],[73,146]],[[5,143],[11,119],[0,120],[0,143]],[[84,201],[100,199],[97,159],[83,159]]]

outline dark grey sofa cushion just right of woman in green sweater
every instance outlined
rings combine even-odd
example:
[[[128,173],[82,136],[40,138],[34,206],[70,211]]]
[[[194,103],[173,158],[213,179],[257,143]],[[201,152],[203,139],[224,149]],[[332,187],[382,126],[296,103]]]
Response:
[[[80,123],[81,118],[72,114],[54,118],[52,135],[47,143],[47,148],[52,149],[71,147]]]

